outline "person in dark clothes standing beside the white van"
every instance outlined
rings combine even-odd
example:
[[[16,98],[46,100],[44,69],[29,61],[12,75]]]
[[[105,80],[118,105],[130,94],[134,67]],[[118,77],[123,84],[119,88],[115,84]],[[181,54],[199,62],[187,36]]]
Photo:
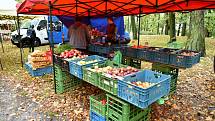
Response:
[[[34,52],[34,43],[36,41],[36,32],[34,30],[34,25],[31,25],[27,30],[27,36],[29,39],[29,52]]]

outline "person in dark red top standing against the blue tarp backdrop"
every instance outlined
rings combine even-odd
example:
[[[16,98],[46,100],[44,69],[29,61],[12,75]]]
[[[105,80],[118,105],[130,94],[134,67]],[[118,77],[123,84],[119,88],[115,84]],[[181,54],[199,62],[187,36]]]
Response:
[[[116,25],[114,24],[113,18],[109,17],[107,19],[107,22],[108,22],[107,41],[111,43],[117,43],[117,40],[116,40],[117,28],[116,28]]]

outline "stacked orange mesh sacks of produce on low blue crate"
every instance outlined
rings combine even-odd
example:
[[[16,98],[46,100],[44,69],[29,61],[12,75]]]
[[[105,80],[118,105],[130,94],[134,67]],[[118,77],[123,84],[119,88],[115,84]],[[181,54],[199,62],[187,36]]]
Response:
[[[46,52],[39,50],[34,51],[29,55],[28,62],[32,65],[34,70],[50,66],[51,62]]]

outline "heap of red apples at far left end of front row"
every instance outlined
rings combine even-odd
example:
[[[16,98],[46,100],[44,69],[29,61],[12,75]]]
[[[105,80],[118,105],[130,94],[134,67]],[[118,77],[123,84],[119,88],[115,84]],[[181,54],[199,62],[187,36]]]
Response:
[[[85,58],[87,57],[88,55],[84,55],[81,51],[78,51],[76,49],[71,49],[71,50],[65,50],[64,52],[62,52],[60,54],[60,58],[73,58],[73,57],[76,57],[76,58]]]

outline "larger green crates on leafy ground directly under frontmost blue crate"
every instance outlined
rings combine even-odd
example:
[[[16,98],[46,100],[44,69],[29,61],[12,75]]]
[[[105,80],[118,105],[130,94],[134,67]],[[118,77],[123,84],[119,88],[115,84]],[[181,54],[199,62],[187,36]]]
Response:
[[[151,107],[140,109],[107,94],[107,121],[149,121]]]

